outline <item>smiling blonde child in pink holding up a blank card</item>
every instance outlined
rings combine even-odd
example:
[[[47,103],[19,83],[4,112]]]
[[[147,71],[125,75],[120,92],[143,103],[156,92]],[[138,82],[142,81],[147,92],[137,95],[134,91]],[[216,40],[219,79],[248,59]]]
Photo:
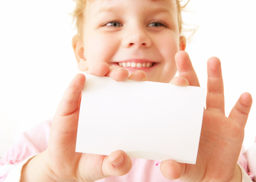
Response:
[[[175,0],[77,1],[78,34],[72,44],[79,69],[117,81],[172,81],[178,86],[199,87],[184,52],[180,11]],[[53,120],[26,132],[21,142],[4,155],[1,163],[6,164],[6,174],[1,179],[250,181],[237,161],[251,95],[243,93],[227,118],[219,59],[212,57],[207,65],[206,109],[195,165],[173,160],[156,165],[157,161],[130,159],[124,151],[113,151],[109,156],[76,153],[79,101],[86,81],[84,75],[78,74],[64,93]],[[177,70],[180,77],[173,78]]]

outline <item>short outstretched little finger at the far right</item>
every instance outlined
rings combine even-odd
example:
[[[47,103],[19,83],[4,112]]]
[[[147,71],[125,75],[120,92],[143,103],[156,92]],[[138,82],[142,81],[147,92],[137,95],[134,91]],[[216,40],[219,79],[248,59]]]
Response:
[[[252,97],[250,93],[243,93],[232,108],[229,118],[234,119],[238,125],[245,128],[251,110]]]

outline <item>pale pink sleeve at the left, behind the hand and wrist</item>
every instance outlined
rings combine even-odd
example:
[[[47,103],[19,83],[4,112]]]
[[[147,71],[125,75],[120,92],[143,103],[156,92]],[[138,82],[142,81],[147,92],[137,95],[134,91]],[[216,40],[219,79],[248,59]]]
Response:
[[[0,167],[7,169],[8,173],[11,166],[18,165],[31,155],[43,152],[48,147],[51,123],[52,119],[48,119],[24,132],[18,142],[4,152],[0,159]],[[0,181],[6,174],[1,176]]]

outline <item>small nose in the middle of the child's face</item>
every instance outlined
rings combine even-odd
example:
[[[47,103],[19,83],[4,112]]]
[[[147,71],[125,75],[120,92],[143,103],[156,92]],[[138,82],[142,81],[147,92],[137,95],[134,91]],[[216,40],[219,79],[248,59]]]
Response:
[[[142,27],[127,28],[124,33],[122,45],[124,47],[150,47],[152,44],[146,29]]]

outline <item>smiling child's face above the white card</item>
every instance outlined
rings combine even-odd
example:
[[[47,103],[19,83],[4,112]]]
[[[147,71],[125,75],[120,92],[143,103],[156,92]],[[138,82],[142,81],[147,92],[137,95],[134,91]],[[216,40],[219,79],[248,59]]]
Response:
[[[174,55],[185,47],[175,0],[88,1],[83,30],[81,70],[106,62],[130,74],[143,70],[148,81],[170,82],[177,72]]]

